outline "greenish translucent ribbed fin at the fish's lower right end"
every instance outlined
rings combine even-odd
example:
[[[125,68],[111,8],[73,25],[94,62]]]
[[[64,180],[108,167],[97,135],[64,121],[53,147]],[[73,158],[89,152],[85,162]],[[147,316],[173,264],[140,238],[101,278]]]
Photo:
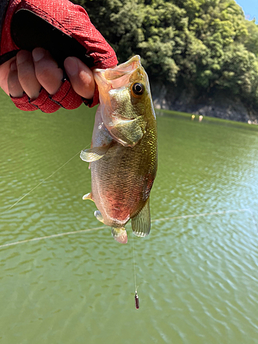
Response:
[[[149,198],[140,213],[131,219],[131,227],[133,229],[133,234],[137,235],[138,237],[147,237],[149,234],[151,230]]]

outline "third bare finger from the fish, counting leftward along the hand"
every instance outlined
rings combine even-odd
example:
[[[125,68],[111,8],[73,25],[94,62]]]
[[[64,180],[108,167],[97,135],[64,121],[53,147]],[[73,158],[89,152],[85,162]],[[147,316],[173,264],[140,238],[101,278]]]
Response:
[[[21,50],[17,53],[18,78],[25,94],[36,99],[41,90],[41,84],[36,79],[32,53]]]

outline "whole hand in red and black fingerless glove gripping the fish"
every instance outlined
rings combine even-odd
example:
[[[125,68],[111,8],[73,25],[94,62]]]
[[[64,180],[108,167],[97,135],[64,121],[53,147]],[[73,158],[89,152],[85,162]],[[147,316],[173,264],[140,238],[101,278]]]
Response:
[[[113,67],[118,61],[87,12],[68,0],[56,0],[54,5],[52,0],[8,3],[0,86],[14,104],[25,111],[49,113],[60,107],[75,109],[83,102],[89,107],[98,104],[92,69]],[[45,55],[36,58],[39,52]],[[69,80],[63,79],[63,70]]]

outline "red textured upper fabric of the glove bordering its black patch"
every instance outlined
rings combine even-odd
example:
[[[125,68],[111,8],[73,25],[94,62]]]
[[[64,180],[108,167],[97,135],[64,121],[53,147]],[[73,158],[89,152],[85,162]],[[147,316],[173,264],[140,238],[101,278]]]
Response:
[[[68,0],[10,1],[3,23],[0,56],[20,48],[12,40],[10,26],[14,13],[21,9],[33,12],[63,34],[78,41],[85,47],[86,54],[94,59],[92,68],[108,68],[118,63],[114,50],[91,23],[87,12]]]

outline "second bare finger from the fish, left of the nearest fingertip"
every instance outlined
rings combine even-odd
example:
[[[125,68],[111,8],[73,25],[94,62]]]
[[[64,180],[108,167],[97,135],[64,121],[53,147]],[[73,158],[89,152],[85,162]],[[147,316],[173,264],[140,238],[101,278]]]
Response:
[[[32,56],[39,83],[49,94],[55,94],[62,85],[63,70],[58,68],[50,52],[42,47],[36,47],[32,51]]]

